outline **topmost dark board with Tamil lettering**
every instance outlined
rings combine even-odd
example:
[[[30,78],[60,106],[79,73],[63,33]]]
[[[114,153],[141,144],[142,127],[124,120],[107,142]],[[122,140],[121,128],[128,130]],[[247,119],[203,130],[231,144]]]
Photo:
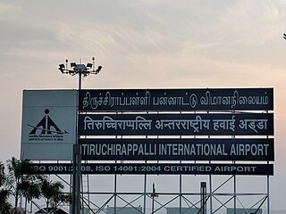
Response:
[[[273,110],[273,88],[80,90],[80,111]]]

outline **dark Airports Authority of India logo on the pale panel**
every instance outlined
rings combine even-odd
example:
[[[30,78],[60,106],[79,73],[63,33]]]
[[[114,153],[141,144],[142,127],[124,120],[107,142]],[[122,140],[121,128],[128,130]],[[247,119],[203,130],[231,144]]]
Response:
[[[66,130],[56,124],[56,120],[49,116],[50,111],[46,109],[38,124],[27,124],[31,128],[29,142],[63,142],[63,137],[69,134]]]

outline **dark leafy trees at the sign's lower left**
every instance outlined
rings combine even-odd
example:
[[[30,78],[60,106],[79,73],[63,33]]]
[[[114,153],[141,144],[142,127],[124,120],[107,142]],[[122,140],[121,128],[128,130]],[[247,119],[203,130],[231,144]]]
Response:
[[[63,188],[62,182],[53,182],[35,173],[29,160],[21,161],[13,157],[7,161],[7,170],[0,161],[0,214],[22,213],[17,208],[21,195],[28,201],[44,198],[47,208],[57,208],[61,202],[71,202],[71,194],[63,193]],[[14,207],[8,202],[11,195],[15,198]]]

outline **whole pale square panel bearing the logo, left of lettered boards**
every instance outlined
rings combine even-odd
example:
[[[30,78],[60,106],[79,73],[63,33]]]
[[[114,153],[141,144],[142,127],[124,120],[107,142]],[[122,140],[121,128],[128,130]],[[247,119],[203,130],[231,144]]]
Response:
[[[76,115],[76,90],[23,91],[21,159],[71,161]]]

